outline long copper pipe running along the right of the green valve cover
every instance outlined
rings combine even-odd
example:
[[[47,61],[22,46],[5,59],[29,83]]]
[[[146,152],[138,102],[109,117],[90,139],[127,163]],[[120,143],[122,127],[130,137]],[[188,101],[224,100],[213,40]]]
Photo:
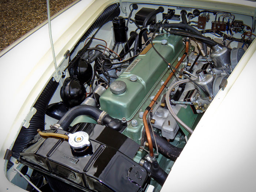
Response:
[[[178,61],[177,65],[175,66],[176,69],[178,69],[178,67],[180,67],[180,64],[182,63],[182,61],[185,59],[185,57],[188,54],[188,49],[189,49],[189,42],[186,42],[186,50],[185,53],[182,55],[181,59]],[[170,63],[168,63],[170,65]],[[155,102],[157,101],[158,97],[161,95],[161,93],[163,92],[163,90],[165,89],[167,83],[170,81],[170,79],[172,78],[173,74],[176,72],[176,70],[173,70],[173,73],[170,73],[170,75],[167,77],[167,79],[165,80],[165,82],[163,83],[163,85],[161,86],[161,88],[159,89],[159,91],[157,92],[157,94],[155,95],[154,99],[151,101],[151,103],[148,105],[151,109],[153,107],[153,105],[155,104]],[[148,128],[148,124],[147,124],[147,114],[148,114],[149,110],[146,109],[144,114],[143,114],[143,124],[145,127],[145,132],[146,132],[146,136],[147,136],[147,142],[148,142],[148,148],[149,148],[149,155],[150,157],[154,157],[154,151],[153,151],[153,143],[152,143],[152,139],[150,136],[150,131]]]

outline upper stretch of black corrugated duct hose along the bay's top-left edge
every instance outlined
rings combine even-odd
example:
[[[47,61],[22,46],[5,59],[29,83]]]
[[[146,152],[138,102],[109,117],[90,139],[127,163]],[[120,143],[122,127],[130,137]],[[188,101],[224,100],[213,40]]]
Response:
[[[118,8],[117,8],[118,7]],[[112,16],[110,16],[108,18],[108,16],[112,14]],[[109,5],[103,12],[101,15],[98,16],[98,18],[95,20],[95,22],[93,23],[93,25],[91,25],[91,27],[86,31],[86,33],[84,33],[84,35],[80,38],[80,40],[78,41],[78,43],[75,45],[74,49],[80,44],[80,42],[84,41],[95,29],[97,29],[99,26],[108,23],[109,21],[113,20],[116,16],[118,16],[120,14],[120,7],[118,6],[118,4],[113,4],[113,5]],[[106,21],[105,19],[108,18]],[[105,22],[104,22],[105,21]]]

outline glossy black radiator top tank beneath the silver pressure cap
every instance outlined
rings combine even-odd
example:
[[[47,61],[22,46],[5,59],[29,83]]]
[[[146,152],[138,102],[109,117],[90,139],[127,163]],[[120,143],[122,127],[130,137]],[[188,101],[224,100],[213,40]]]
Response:
[[[32,169],[86,191],[142,191],[146,170],[132,160],[139,145],[102,125],[79,123],[69,133],[89,135],[90,146],[75,153],[68,140],[38,135],[20,153],[19,161]],[[61,129],[48,130],[68,135]]]

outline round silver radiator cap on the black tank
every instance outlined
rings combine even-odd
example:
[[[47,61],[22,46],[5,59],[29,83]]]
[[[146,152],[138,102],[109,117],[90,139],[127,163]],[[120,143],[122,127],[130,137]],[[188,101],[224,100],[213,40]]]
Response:
[[[68,134],[68,143],[73,149],[81,149],[90,146],[89,135],[86,132],[79,131]]]

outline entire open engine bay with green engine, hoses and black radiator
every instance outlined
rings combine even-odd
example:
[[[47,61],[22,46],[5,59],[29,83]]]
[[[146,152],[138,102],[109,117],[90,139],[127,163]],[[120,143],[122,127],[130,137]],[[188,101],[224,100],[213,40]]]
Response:
[[[200,8],[109,5],[34,103],[8,151],[12,182],[27,191],[159,192],[251,45],[252,22]]]

